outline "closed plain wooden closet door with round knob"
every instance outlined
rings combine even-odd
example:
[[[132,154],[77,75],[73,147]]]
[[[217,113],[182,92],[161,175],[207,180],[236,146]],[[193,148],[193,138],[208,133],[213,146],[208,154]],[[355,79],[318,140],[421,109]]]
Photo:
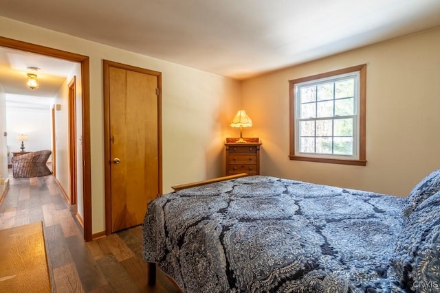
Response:
[[[157,75],[109,67],[111,232],[142,224],[159,194]]]

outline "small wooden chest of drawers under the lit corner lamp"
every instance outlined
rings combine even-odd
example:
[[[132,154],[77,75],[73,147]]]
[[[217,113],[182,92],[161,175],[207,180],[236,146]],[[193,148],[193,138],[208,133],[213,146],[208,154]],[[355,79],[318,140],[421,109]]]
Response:
[[[260,146],[258,139],[248,143],[231,142],[226,139],[226,176],[247,173],[249,175],[260,174]]]

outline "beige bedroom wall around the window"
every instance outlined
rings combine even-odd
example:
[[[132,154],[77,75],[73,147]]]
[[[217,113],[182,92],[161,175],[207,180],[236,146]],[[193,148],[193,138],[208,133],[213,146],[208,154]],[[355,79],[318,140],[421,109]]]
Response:
[[[246,80],[243,108],[261,137],[261,173],[407,196],[440,167],[440,28]],[[367,67],[366,167],[290,161],[288,80]]]

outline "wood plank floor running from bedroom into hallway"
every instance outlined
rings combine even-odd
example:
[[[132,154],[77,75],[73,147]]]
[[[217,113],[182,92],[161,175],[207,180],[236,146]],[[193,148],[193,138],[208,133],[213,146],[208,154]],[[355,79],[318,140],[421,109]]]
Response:
[[[52,292],[180,292],[163,272],[147,283],[142,227],[84,242],[53,176],[12,178],[0,204],[0,229],[43,222]]]

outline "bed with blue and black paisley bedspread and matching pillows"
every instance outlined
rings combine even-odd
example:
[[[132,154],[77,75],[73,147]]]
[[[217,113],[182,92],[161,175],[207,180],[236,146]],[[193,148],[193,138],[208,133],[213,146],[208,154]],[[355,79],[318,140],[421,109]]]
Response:
[[[440,292],[440,169],[408,198],[271,176],[199,185],[153,200],[143,224],[151,272],[183,292]]]

